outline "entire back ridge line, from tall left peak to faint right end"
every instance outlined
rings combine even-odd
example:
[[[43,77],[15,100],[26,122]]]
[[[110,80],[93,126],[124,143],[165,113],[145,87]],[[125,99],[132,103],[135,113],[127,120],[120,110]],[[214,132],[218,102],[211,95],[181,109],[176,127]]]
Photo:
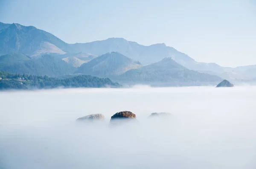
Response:
[[[71,53],[88,53],[92,57],[82,58],[82,60],[88,62],[94,56],[100,56],[112,51],[137,60],[143,65],[159,62],[165,57],[172,57],[175,62],[190,70],[209,73],[225,79],[239,80],[256,77],[256,73],[253,73],[254,68],[245,66],[241,70],[241,68],[221,67],[216,63],[196,62],[187,54],[166,46],[165,43],[145,46],[124,38],[108,38],[87,43],[68,44],[49,32],[34,26],[23,26],[18,23],[0,23],[0,55],[23,53],[28,56],[44,54],[63,56]]]

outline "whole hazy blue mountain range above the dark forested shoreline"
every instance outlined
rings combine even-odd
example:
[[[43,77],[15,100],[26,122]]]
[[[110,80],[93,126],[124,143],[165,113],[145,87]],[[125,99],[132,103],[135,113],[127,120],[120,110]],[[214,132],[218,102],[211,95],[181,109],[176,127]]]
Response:
[[[17,23],[0,23],[0,55],[0,70],[12,73],[48,76],[81,73],[123,82],[169,79],[166,83],[192,85],[256,78],[256,65],[226,68],[216,63],[196,62],[164,43],[145,46],[123,38],[109,38],[68,44],[46,31]]]

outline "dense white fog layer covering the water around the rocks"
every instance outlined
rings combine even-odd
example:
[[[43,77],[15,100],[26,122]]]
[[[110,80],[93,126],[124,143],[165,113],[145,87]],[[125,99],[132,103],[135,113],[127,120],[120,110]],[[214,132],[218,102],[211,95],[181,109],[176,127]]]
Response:
[[[0,169],[256,168],[256,87],[21,91],[0,103]],[[122,110],[138,122],[111,127]],[[106,120],[76,121],[93,113]]]

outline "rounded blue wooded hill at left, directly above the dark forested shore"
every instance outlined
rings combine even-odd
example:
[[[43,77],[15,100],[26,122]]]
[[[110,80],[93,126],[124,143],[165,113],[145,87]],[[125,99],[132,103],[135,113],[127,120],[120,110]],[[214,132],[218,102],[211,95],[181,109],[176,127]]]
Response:
[[[60,76],[73,73],[75,69],[63,60],[50,55],[44,55],[39,59],[31,59],[24,54],[8,54],[0,56],[0,71]]]

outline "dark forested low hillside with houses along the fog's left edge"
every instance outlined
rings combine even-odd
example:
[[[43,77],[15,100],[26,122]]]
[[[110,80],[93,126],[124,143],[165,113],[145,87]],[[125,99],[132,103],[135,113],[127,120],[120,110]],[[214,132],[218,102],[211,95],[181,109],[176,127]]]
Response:
[[[52,89],[57,87],[120,87],[108,78],[80,75],[72,78],[58,79],[48,76],[13,74],[0,72],[0,90],[8,89]]]

